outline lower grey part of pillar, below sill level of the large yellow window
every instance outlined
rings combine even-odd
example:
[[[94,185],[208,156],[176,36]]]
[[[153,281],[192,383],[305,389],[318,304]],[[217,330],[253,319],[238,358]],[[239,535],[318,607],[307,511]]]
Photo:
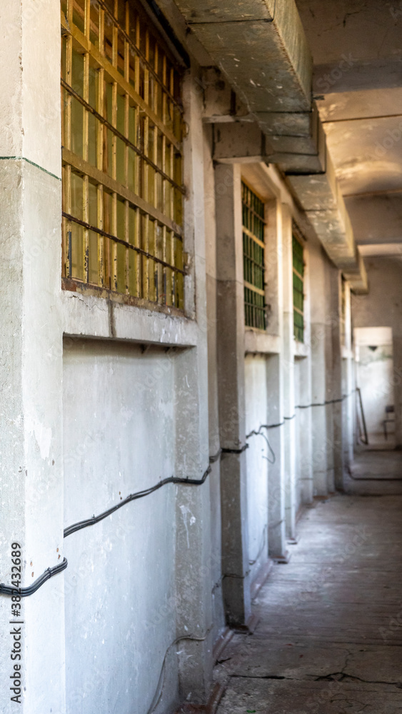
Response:
[[[176,472],[197,478],[208,467],[206,373],[203,349],[176,359]],[[179,649],[180,697],[205,704],[211,689],[213,660],[211,610],[211,505],[208,480],[199,488],[176,491],[176,636]]]

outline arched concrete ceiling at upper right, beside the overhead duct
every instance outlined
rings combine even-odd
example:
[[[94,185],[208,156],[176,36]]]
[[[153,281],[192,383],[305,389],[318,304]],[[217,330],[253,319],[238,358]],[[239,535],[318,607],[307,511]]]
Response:
[[[356,242],[385,250],[402,243],[402,1],[296,5]]]

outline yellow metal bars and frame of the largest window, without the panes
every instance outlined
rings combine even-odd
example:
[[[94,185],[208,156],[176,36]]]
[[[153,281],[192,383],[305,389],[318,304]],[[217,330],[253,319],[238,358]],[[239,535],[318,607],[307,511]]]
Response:
[[[111,2],[109,1],[109,5]],[[98,0],[99,6],[99,25],[97,26],[97,31],[99,32],[98,44],[96,45],[91,42],[93,37],[94,23],[91,20],[91,3],[89,0],[81,1],[81,11],[82,11],[82,22],[83,26],[80,29],[76,24],[74,24],[74,17],[76,17],[76,4],[72,0],[62,0],[61,2],[61,34],[63,36],[62,46],[66,48],[66,59],[64,62],[65,67],[65,78],[61,78],[61,88],[62,88],[62,115],[64,121],[64,144],[62,149],[62,162],[63,162],[63,196],[64,205],[62,211],[62,223],[63,223],[63,243],[62,243],[62,288],[69,291],[78,291],[85,294],[96,295],[100,297],[111,298],[114,301],[122,302],[137,306],[146,306],[151,309],[158,309],[162,311],[172,311],[179,313],[181,316],[184,314],[184,277],[186,275],[186,255],[184,253],[184,196],[186,189],[183,185],[183,171],[184,171],[184,151],[183,151],[183,68],[179,67],[176,59],[171,54],[169,46],[167,46],[166,41],[162,38],[152,24],[151,19],[146,16],[144,10],[142,9],[141,3],[136,2],[135,12],[136,12],[136,23],[134,27],[137,46],[135,47],[132,38],[130,37],[131,27],[130,27],[130,10],[129,4],[124,0],[115,0],[114,2],[114,12],[112,13],[110,7],[106,4],[105,0]],[[66,14],[64,14],[63,7],[66,9]],[[132,7],[132,6],[131,6]],[[121,25],[119,10],[124,9],[124,21],[125,26]],[[74,15],[75,14],[75,15]],[[111,26],[111,41],[109,42],[109,55],[105,51],[105,17],[108,16],[109,27]],[[140,19],[139,19],[140,18]],[[141,37],[140,37],[140,20],[144,24],[143,34],[146,34],[146,43],[144,47],[141,47]],[[91,24],[92,23],[92,24]],[[92,28],[92,29],[91,29]],[[153,37],[154,40],[154,67],[149,55],[149,37]],[[120,42],[120,44],[119,44]],[[121,45],[121,42],[123,45]],[[102,49],[103,46],[103,49]],[[121,55],[121,46],[124,46],[123,55]],[[79,54],[84,56],[84,79],[82,81],[83,91],[81,94],[71,86],[69,82],[66,81],[68,77],[74,79],[71,72],[71,53],[73,47],[79,49]],[[161,59],[159,57],[159,47],[161,47]],[[130,54],[136,52],[133,66],[130,64]],[[67,52],[69,56],[67,56]],[[120,52],[120,54],[119,54]],[[123,58],[123,59],[122,59]],[[156,58],[156,59],[155,59]],[[119,60],[119,61],[118,61]],[[121,67],[121,63],[124,60],[124,67]],[[158,77],[158,71],[160,64],[163,64],[164,74]],[[96,107],[92,106],[89,102],[89,66],[91,63],[95,63],[96,71],[98,72],[98,79],[96,80]],[[158,64],[159,63],[159,64]],[[144,96],[141,96],[141,91],[139,91],[140,82],[140,66],[143,78],[143,92]],[[170,75],[167,76],[169,67]],[[134,74],[134,69],[136,71],[135,83],[131,74]],[[68,74],[68,70],[70,74]],[[175,99],[175,91],[177,94],[177,82],[176,75],[174,72],[178,73],[180,90],[179,90],[179,100]],[[130,74],[131,73],[131,74]],[[154,95],[149,97],[151,86],[150,76],[153,76],[154,81]],[[112,116],[109,117],[107,112],[101,108],[101,82],[104,83],[104,79],[111,84],[114,91],[113,106],[111,109]],[[74,81],[71,81],[74,85]],[[134,86],[135,84],[135,86]],[[146,86],[148,84],[148,89]],[[104,87],[106,84],[104,84]],[[156,88],[156,89],[155,89]],[[148,93],[148,94],[147,94]],[[124,131],[121,131],[121,126],[119,126],[116,118],[116,106],[117,106],[117,95],[124,101]],[[156,97],[161,97],[159,101],[159,110],[162,112],[162,116],[158,116],[158,99]],[[83,148],[83,156],[75,154],[71,151],[71,101],[76,101],[81,105],[82,109],[82,122],[83,122],[83,146],[85,136],[88,134],[88,121],[89,116],[92,115],[96,120],[96,162],[90,163],[88,161],[88,144],[86,148]],[[138,131],[134,131],[134,141],[131,141],[129,136],[129,126],[127,124],[127,115],[129,111],[127,107],[134,109],[135,116],[141,116],[144,119],[144,123],[148,122],[147,134],[148,139],[145,144],[142,145],[141,141],[138,143],[136,137],[138,136]],[[173,109],[171,109],[173,107]],[[100,111],[99,111],[100,110]],[[180,111],[180,136],[175,134],[175,122],[177,119],[177,112]],[[70,113],[70,114],[69,114]],[[173,123],[169,127],[169,116],[174,114]],[[139,127],[139,121],[136,123],[135,129]],[[150,124],[152,125],[151,128]],[[67,126],[66,126],[67,125]],[[111,136],[111,154],[112,163],[114,164],[113,170],[110,173],[104,171],[104,165],[99,161],[99,151],[105,151],[105,149],[99,149],[101,144],[101,138],[99,137],[99,132],[107,131]],[[154,134],[153,144],[151,143],[151,134]],[[177,132],[176,132],[177,133]],[[161,136],[161,141],[159,141],[159,136]],[[69,141],[66,141],[69,139]],[[117,151],[116,144],[120,143],[124,146],[124,174],[126,178],[126,185],[117,180]],[[162,144],[163,149],[161,155],[163,157],[162,165],[160,166],[160,161],[158,157],[158,146]],[[145,146],[145,148],[144,148]],[[149,147],[151,146],[151,149]],[[169,146],[171,164],[166,170],[166,146]],[[139,178],[139,183],[136,186],[136,191],[130,191],[128,188],[128,170],[127,170],[127,158],[128,147],[134,152],[134,164],[136,168],[134,171],[144,171],[144,174],[151,174],[154,172],[154,201],[153,205],[149,201],[149,195],[144,198],[141,191],[141,181],[144,183],[143,178]],[[151,153],[153,148],[153,154]],[[176,168],[174,164],[174,156],[179,153],[180,163],[181,163],[181,180],[178,182],[178,178],[175,174]],[[138,159],[138,161],[136,161]],[[139,168],[137,168],[139,164]],[[145,168],[144,168],[145,167]],[[79,176],[83,183],[83,211],[81,216],[74,216],[71,212],[71,173]],[[70,174],[70,178],[66,179],[66,174]],[[166,209],[166,186],[170,186],[170,196],[171,205],[169,208],[170,216],[166,214],[166,210],[159,210],[158,195],[156,188],[156,180],[159,179],[159,183],[162,186],[162,204],[164,209]],[[88,220],[88,210],[86,209],[86,203],[88,203],[88,184],[91,186],[96,186],[97,191],[97,202],[98,202],[98,215],[96,216],[96,223],[94,221],[90,222]],[[102,196],[107,194],[108,203],[110,204],[109,223],[110,226],[104,225],[104,206],[99,208],[99,189],[101,189]],[[139,190],[140,189],[140,190]],[[174,220],[176,217],[175,206],[173,205],[176,193],[179,192],[181,196],[181,207],[179,210],[179,216],[181,216],[181,225]],[[152,193],[151,193],[152,195]],[[101,198],[103,201],[103,198]],[[124,206],[125,213],[125,223],[124,223],[124,236],[119,235],[119,231],[116,228],[117,218],[116,213],[121,209],[120,204]],[[129,211],[131,213],[129,214]],[[99,217],[101,213],[101,217]],[[134,218],[134,223],[131,221],[131,232],[132,237],[129,236],[129,228],[127,227],[128,218],[127,215]],[[78,258],[82,259],[82,279],[74,275],[71,270],[71,225],[72,224],[80,226],[82,233],[82,243],[83,250],[82,255],[80,253],[80,248],[78,249]],[[153,228],[153,238],[150,238],[151,231],[149,226]],[[142,228],[141,226],[146,226]],[[109,228],[109,229],[106,229]],[[98,247],[97,256],[94,263],[98,270],[98,280],[89,280],[89,235],[91,234],[94,241],[94,234],[96,236],[96,245]],[[131,235],[131,234],[130,234]],[[153,242],[153,244],[152,244]],[[105,258],[105,245],[109,251],[108,265],[106,266]],[[119,253],[120,251],[120,253]],[[125,253],[125,256],[124,256]],[[119,256],[119,257],[118,257]],[[121,256],[125,257],[125,262]],[[130,284],[129,280],[129,256],[133,257],[131,261],[131,277],[133,278],[133,284]],[[124,273],[126,280],[124,281],[124,289],[121,289],[118,283],[118,260],[120,260],[120,270]],[[124,266],[123,266],[124,263]],[[134,265],[134,268],[133,268]],[[81,262],[79,263],[81,269]],[[123,266],[123,267],[122,267]],[[134,275],[135,273],[135,275]],[[154,287],[153,287],[154,283]],[[160,287],[162,289],[160,289]]]

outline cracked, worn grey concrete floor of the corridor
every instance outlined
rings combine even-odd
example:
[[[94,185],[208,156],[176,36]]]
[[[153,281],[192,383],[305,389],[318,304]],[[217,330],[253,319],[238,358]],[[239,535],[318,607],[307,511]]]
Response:
[[[221,654],[218,714],[402,712],[402,496],[317,501]]]

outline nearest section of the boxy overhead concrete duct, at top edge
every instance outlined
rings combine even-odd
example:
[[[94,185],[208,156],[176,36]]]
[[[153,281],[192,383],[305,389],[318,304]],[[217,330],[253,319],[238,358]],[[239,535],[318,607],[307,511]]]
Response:
[[[310,111],[312,61],[294,0],[176,5],[248,109]]]

